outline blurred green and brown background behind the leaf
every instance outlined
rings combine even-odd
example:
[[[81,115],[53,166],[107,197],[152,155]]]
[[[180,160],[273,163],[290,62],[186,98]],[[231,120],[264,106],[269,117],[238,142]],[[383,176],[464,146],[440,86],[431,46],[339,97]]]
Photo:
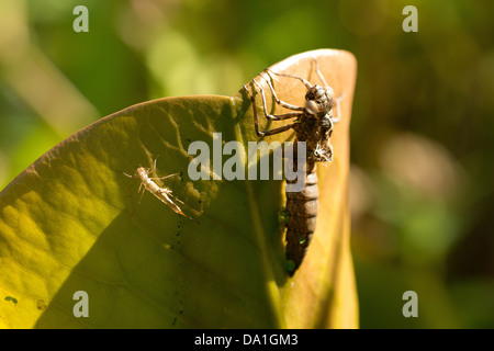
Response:
[[[79,4],[88,33],[72,30]],[[493,23],[487,0],[2,0],[0,189],[104,115],[232,95],[290,55],[347,49],[361,327],[494,328]],[[417,318],[402,315],[408,290]]]

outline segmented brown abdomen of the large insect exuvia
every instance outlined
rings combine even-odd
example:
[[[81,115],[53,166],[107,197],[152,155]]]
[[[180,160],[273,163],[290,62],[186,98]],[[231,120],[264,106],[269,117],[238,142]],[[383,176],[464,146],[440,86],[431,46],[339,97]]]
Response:
[[[287,181],[290,183],[290,181]],[[295,181],[292,181],[295,182]],[[319,192],[314,162],[307,162],[305,188],[301,192],[287,192],[287,259],[294,263],[293,274],[302,263],[316,226]]]

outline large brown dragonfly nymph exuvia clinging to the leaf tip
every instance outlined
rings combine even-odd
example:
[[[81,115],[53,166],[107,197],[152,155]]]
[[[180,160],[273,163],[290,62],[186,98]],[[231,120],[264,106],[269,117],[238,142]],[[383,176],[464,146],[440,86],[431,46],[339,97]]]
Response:
[[[339,102],[343,99],[343,94],[340,98],[335,98],[335,92],[324,79],[323,73],[317,67],[316,60],[314,60],[314,70],[319,77],[323,86],[312,84],[302,77],[280,73],[270,69],[266,69],[259,73],[261,81],[263,80],[269,87],[269,91],[276,103],[287,110],[291,110],[291,112],[278,115],[268,112],[266,92],[261,83],[252,80],[250,84],[251,90],[244,86],[244,89],[252,103],[254,127],[257,136],[265,137],[293,129],[295,132],[294,147],[296,147],[297,143],[305,143],[305,188],[300,192],[287,191],[287,270],[290,274],[293,274],[302,263],[305,251],[315,231],[318,211],[316,163],[330,162],[333,160],[333,146],[329,139],[334,124],[339,121]],[[284,102],[278,98],[272,81],[274,79],[277,83],[280,83],[280,77],[284,77],[283,79],[300,80],[305,86],[305,104],[303,106]],[[292,120],[291,123],[272,129],[260,131],[258,111],[256,107],[257,94],[260,94],[261,97],[265,118],[273,122]],[[336,116],[333,113],[335,106],[338,112]],[[297,152],[293,152],[293,157],[296,158]],[[296,159],[293,160],[293,165],[296,167]],[[290,183],[288,180],[287,182]]]

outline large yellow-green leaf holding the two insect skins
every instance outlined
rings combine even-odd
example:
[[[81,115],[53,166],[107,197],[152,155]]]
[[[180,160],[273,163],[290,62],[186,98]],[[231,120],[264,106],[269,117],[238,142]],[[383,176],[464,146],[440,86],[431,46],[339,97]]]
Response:
[[[347,203],[355,59],[316,50],[272,69],[315,81],[313,57],[336,93],[346,95],[332,138],[334,161],[318,168],[316,233],[293,278],[284,270],[282,181],[193,181],[188,174],[197,157],[188,155],[192,141],[205,141],[213,154],[213,133],[222,133],[223,145],[238,140],[246,149],[258,140],[250,100],[243,90],[233,98],[167,98],[74,134],[0,193],[0,325],[356,327]],[[274,84],[283,100],[303,101],[300,81],[280,78]],[[141,200],[141,181],[124,174],[150,168],[155,158],[153,176],[178,173],[162,185],[194,219],[149,192]],[[88,317],[74,314],[80,291],[88,296]]]

